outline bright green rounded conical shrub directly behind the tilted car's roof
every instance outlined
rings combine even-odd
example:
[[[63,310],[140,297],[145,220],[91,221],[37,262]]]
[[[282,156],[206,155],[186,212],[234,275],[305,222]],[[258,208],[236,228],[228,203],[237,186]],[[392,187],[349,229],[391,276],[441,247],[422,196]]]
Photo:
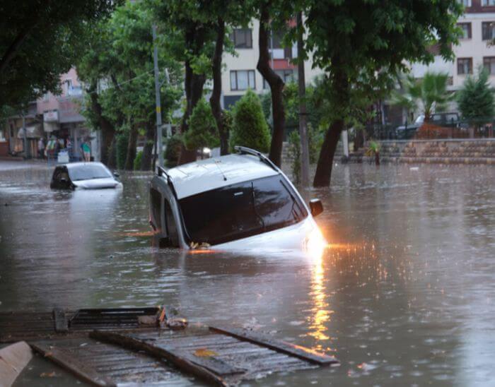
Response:
[[[235,145],[243,145],[268,152],[270,133],[267,121],[264,119],[260,98],[252,90],[248,90],[235,104],[233,118],[230,138],[232,149]]]

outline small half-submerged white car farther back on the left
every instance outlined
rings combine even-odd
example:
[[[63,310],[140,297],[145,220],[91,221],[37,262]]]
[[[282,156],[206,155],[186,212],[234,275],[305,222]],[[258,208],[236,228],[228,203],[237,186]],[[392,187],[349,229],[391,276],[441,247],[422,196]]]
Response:
[[[101,162],[71,162],[55,168],[50,182],[52,189],[121,188],[117,172],[110,172]]]

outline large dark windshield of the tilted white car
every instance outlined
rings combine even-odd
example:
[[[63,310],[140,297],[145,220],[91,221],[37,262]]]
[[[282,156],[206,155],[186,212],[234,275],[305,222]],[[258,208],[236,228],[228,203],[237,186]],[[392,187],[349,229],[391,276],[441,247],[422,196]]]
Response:
[[[303,203],[280,175],[188,196],[179,201],[190,242],[220,244],[300,222]]]

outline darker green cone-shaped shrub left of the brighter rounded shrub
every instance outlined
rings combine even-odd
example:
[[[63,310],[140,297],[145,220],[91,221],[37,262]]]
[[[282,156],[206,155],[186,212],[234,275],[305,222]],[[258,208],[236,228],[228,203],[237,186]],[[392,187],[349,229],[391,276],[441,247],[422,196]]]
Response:
[[[192,109],[189,130],[184,133],[184,145],[188,150],[214,148],[220,145],[215,118],[209,103],[204,98]]]

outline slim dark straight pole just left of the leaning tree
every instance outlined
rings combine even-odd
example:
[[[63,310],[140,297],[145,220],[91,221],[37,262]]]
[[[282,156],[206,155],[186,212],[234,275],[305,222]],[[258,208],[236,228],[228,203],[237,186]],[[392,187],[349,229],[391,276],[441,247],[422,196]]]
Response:
[[[299,28],[297,40],[298,54],[298,90],[299,90],[299,137],[301,138],[301,184],[309,186],[309,146],[308,146],[308,121],[306,111],[306,85],[304,78],[303,57],[303,13],[297,14],[297,25]]]

